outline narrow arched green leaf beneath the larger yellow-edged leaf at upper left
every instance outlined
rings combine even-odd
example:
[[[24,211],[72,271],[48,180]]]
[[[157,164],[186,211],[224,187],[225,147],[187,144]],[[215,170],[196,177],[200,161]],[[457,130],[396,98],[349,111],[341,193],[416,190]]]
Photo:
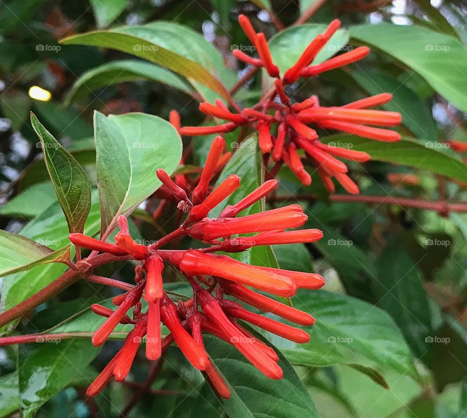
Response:
[[[158,81],[186,93],[193,91],[179,76],[165,68],[144,61],[126,59],[100,65],[83,73],[67,93],[65,106],[84,99],[97,89],[126,81],[139,80]]]

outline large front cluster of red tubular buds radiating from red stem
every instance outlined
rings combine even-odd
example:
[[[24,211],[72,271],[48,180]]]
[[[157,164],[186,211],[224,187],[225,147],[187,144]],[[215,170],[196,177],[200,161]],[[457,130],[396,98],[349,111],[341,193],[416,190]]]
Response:
[[[308,313],[253,291],[250,287],[289,297],[299,288],[319,289],[324,281],[323,277],[315,273],[251,266],[228,255],[215,254],[218,251],[236,253],[259,245],[314,242],[323,236],[317,229],[285,231],[305,224],[307,217],[299,205],[237,217],[244,209],[273,190],[277,186],[276,180],[263,183],[242,200],[227,206],[218,218],[206,218],[240,184],[240,179],[231,175],[212,192],[208,190],[221,158],[223,144],[221,137],[215,139],[191,199],[188,199],[186,193],[180,192],[180,187],[165,172],[158,170],[159,178],[167,190],[189,208],[183,225],[167,237],[191,236],[203,241],[207,245],[204,248],[164,250],[162,247],[170,242],[167,237],[149,246],[138,244],[130,236],[126,218],[123,216],[118,218],[120,231],[115,236],[115,244],[83,234],[70,235],[72,243],[80,247],[125,256],[125,259],[140,262],[135,270],[135,286],[113,299],[115,310],[101,305],[92,306],[96,314],[107,317],[94,332],[93,345],[102,345],[118,324],[132,324],[134,328],[128,333],[120,351],[90,385],[88,395],[99,393],[112,377],[116,381],[126,378],[144,337],[146,357],[151,361],[159,359],[164,349],[175,341],[188,361],[204,372],[213,388],[223,398],[230,397],[230,390],[204,349],[203,332],[233,345],[271,379],[280,379],[283,376],[282,369],[277,364],[279,357],[268,345],[242,327],[238,320],[296,343],[309,341],[310,337],[303,329],[253,313],[239,303],[224,298],[224,294],[227,294],[256,309],[309,326],[313,325],[314,319]],[[253,233],[256,235],[238,236]],[[164,292],[162,273],[165,264],[178,269],[187,278],[193,287],[192,299],[179,301],[176,305]],[[147,303],[145,312],[142,312],[142,298]],[[133,309],[132,317],[128,316],[130,309]],[[163,338],[161,323],[170,331]]]

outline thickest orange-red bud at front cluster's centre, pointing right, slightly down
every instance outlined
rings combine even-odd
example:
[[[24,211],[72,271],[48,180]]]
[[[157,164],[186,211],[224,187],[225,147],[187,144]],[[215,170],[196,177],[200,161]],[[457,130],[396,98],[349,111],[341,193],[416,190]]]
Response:
[[[222,277],[284,297],[292,296],[296,291],[294,281],[277,269],[263,270],[261,267],[236,261],[227,255],[189,250],[181,258],[180,270],[189,276],[209,274]]]

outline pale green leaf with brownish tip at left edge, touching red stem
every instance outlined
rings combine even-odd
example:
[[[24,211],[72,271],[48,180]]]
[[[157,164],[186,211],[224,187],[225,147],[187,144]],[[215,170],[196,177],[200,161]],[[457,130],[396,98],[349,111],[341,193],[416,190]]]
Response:
[[[70,246],[54,251],[25,236],[0,229],[0,276],[70,259],[69,253]]]

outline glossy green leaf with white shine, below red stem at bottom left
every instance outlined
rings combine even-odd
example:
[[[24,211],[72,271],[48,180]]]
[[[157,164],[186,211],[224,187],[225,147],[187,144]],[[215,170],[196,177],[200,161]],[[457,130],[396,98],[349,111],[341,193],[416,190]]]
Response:
[[[40,338],[40,337],[38,337]],[[89,340],[40,339],[18,349],[19,397],[24,418],[75,380],[91,383],[84,375],[86,366],[99,348]]]

